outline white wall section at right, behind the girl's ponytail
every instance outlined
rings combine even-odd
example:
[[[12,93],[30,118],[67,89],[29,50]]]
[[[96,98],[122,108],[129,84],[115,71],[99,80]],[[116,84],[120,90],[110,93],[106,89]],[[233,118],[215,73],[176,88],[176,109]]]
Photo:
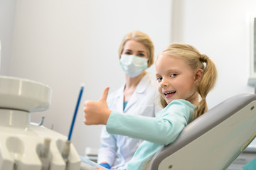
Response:
[[[230,96],[254,92],[247,86],[249,55],[247,11],[253,0],[174,0],[172,42],[185,42],[208,55],[218,68],[218,81],[207,101],[211,108]]]

